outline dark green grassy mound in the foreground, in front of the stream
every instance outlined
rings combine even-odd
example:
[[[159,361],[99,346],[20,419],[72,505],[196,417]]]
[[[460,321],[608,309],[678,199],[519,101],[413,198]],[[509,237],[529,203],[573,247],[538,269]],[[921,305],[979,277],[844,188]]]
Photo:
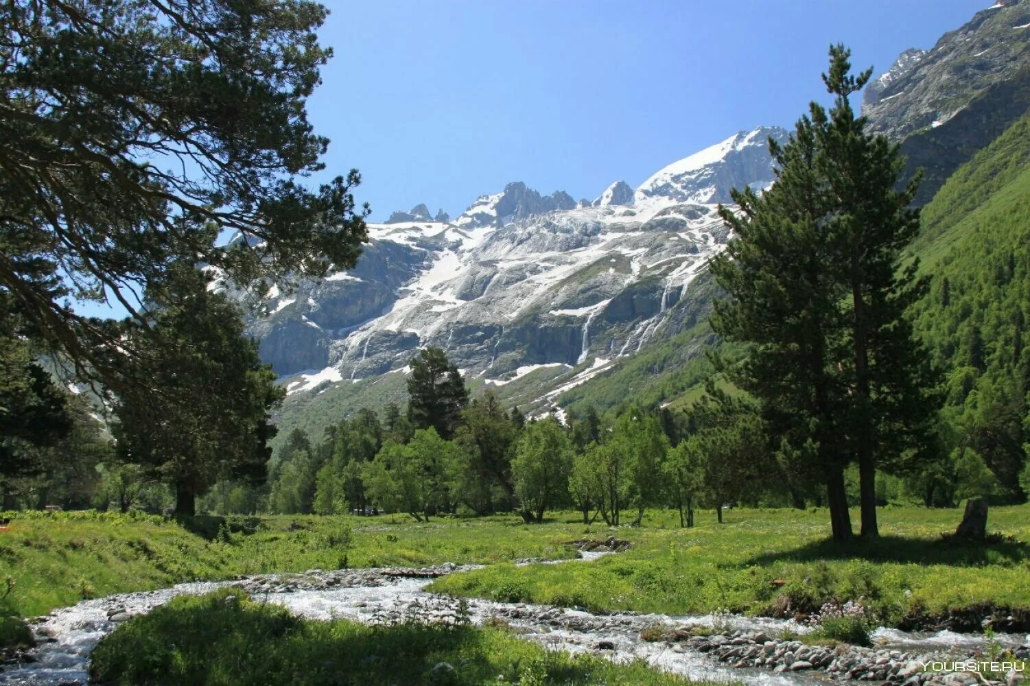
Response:
[[[178,597],[126,622],[97,646],[90,676],[211,686],[688,683],[641,662],[545,651],[499,627],[310,621],[228,589]]]

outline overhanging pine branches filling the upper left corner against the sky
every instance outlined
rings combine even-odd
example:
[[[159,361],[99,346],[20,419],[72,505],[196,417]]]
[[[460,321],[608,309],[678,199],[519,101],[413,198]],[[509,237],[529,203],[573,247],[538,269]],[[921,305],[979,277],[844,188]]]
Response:
[[[327,13],[308,0],[4,6],[0,290],[22,334],[112,392],[149,387],[130,363],[160,339],[143,343],[137,298],[176,264],[255,295],[353,266],[359,175],[306,182],[329,144],[306,111],[332,55],[315,35]],[[116,301],[133,335],[72,298]]]

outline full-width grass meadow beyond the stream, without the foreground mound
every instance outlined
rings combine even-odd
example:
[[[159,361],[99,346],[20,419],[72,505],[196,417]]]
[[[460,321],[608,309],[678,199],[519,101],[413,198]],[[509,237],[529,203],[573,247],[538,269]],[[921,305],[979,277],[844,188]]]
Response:
[[[196,579],[451,561],[491,567],[441,578],[433,590],[594,610],[789,616],[858,601],[870,619],[894,625],[950,611],[1030,617],[1030,506],[992,508],[994,536],[985,544],[941,538],[960,510],[883,508],[883,538],[844,547],[827,540],[825,510],[730,510],[722,525],[714,513],[698,512],[692,529],[679,528],[674,512],[653,511],[645,526],[615,531],[632,543],[627,552],[527,567],[513,560],[573,557],[568,542],[613,531],[584,526],[572,512],[528,525],[509,515],[421,524],[400,515],[182,522],[92,512],[4,516],[13,519],[0,534],[0,578],[13,588],[0,614],[18,616]]]

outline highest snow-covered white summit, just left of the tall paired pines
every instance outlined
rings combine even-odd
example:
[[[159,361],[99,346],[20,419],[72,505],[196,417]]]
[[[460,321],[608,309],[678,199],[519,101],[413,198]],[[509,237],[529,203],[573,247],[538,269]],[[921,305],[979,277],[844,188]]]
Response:
[[[706,205],[732,202],[730,190],[749,185],[767,187],[776,178],[768,139],[786,142],[780,127],[742,131],[721,143],[695,152],[661,169],[644,181],[634,203],[653,201]]]

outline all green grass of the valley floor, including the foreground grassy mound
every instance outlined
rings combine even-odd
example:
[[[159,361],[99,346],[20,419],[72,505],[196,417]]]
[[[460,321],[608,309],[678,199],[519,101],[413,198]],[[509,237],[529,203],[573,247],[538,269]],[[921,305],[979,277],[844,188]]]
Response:
[[[693,528],[680,528],[675,513],[654,511],[643,526],[617,529],[584,525],[579,513],[552,514],[542,524],[507,515],[421,523],[400,515],[181,521],[92,512],[8,515],[9,530],[0,534],[0,575],[6,579],[0,638],[10,644],[25,638],[11,618],[115,592],[259,573],[445,561],[487,567],[440,577],[427,590],[668,615],[792,617],[817,612],[825,603],[852,601],[879,624],[978,630],[991,617],[999,630],[1030,628],[1030,506],[993,508],[985,543],[948,536],[960,510],[887,507],[880,511],[879,541],[844,546],[828,541],[827,514],[818,509],[730,510],[722,524],[714,513],[698,512]],[[628,543],[628,549],[576,564],[524,563],[576,557],[577,544],[612,537],[620,548]],[[231,615],[235,628],[217,632],[216,640],[198,633],[172,642],[171,648],[154,647],[168,637],[184,636],[175,627],[193,621],[193,615],[203,615],[211,626],[229,622]],[[141,650],[150,644],[152,650]],[[396,645],[418,650],[391,667],[399,670],[391,678],[408,670],[424,683],[482,683],[488,675],[492,681],[503,674],[509,679],[522,675],[518,683],[525,684],[679,683],[643,664],[613,666],[596,657],[546,653],[503,627],[366,627],[300,620],[228,590],[177,598],[127,622],[101,643],[93,668],[101,682],[161,683],[154,675],[174,672],[181,677],[175,683],[201,674],[208,683],[234,683],[226,675],[237,679],[242,672],[221,674],[212,665],[250,646],[262,658],[248,661],[247,670],[283,679],[294,675],[287,681],[296,683],[351,683],[298,681],[298,675],[328,663],[336,673],[346,667],[348,674],[372,674],[385,667],[362,662],[362,655],[370,654],[370,646],[376,647],[371,654],[392,654]],[[440,663],[469,666],[460,671],[462,681],[453,681],[442,674],[446,666],[433,672]]]

